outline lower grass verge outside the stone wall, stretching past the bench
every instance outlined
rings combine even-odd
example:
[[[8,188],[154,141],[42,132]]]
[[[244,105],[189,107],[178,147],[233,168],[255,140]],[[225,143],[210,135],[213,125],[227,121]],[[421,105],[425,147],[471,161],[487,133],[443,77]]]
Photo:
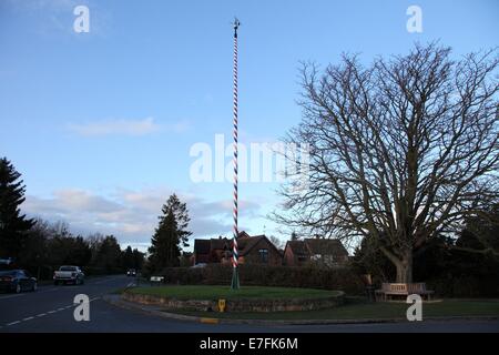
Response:
[[[406,318],[408,306],[405,303],[365,303],[357,298],[348,298],[345,305],[337,308],[307,312],[215,313],[180,310],[165,310],[165,312],[237,320],[369,320]],[[424,320],[448,316],[499,316],[499,300],[444,300],[438,303],[422,304]]]

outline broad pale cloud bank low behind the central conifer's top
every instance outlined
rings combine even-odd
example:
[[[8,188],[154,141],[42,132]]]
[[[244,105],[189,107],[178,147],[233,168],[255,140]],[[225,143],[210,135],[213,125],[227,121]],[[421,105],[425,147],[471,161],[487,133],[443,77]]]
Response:
[[[129,244],[149,243],[161,206],[172,193],[169,189],[141,191],[118,190],[110,196],[102,196],[78,189],[59,190],[49,199],[28,195],[23,212],[55,222],[65,221],[74,233],[114,234]],[[180,194],[187,203],[193,237],[231,234],[232,204],[227,200],[205,201],[196,195]],[[261,206],[255,202],[241,201],[241,206],[251,216]]]

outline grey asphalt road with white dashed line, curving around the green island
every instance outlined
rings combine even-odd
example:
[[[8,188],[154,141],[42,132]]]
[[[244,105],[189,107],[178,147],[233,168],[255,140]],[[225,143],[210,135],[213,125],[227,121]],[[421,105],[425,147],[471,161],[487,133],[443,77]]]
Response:
[[[38,292],[0,294],[0,332],[208,332],[208,333],[364,333],[364,332],[499,332],[499,321],[418,322],[398,324],[344,325],[227,325],[167,320],[113,306],[102,296],[124,287],[131,278],[105,276],[88,280],[84,285],[40,286]],[[90,321],[73,317],[77,294],[90,298]]]

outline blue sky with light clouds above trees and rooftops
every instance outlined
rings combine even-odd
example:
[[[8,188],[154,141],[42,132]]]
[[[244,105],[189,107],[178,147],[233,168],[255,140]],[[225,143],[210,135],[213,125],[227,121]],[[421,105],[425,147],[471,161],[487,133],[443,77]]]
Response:
[[[90,32],[73,31],[73,9]],[[409,6],[422,33],[406,30]],[[231,183],[193,183],[190,149],[231,140],[232,28],[240,31],[240,135],[272,142],[299,122],[299,61],[407,53],[440,40],[458,57],[496,47],[499,2],[0,0],[0,155],[23,174],[30,215],[146,245],[176,192],[195,237],[230,235]],[[230,159],[227,158],[227,162]],[[276,183],[242,183],[240,227],[282,239],[265,216]]]

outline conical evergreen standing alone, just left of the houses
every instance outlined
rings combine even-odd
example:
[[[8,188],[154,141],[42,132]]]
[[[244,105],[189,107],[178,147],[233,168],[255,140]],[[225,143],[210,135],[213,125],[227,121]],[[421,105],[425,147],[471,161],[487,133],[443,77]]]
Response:
[[[187,231],[191,219],[185,203],[173,194],[162,207],[160,223],[151,240],[149,252],[150,268],[161,271],[163,267],[179,266],[181,250],[189,246],[192,232]]]

